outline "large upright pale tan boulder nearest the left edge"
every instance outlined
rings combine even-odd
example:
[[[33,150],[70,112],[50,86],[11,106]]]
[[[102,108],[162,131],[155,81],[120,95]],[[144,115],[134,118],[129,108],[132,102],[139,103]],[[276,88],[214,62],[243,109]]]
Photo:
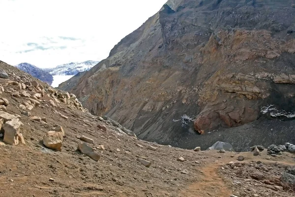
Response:
[[[4,138],[3,142],[10,145],[19,144],[19,134],[20,134],[21,122],[18,119],[12,119],[5,122],[3,126]]]

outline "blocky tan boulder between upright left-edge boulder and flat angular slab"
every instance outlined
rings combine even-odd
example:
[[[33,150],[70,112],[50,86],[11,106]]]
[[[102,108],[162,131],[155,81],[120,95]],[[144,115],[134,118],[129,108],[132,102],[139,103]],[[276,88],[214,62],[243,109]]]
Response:
[[[47,148],[61,151],[62,133],[49,131],[47,135],[43,136],[43,144]]]

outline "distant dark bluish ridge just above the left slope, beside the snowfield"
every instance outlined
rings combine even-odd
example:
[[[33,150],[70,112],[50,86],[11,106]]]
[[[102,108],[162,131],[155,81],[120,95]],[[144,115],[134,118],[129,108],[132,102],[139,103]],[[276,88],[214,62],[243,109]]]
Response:
[[[41,81],[48,83],[49,85],[52,84],[53,76],[48,71],[43,70],[42,68],[31,65],[29,63],[21,63],[16,67],[29,73],[33,77],[36,77],[37,79],[40,79]]]

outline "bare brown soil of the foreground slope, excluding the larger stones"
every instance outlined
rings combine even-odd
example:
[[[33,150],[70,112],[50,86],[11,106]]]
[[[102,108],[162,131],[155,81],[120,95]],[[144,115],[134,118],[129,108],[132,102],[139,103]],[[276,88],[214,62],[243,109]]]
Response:
[[[21,74],[16,68],[1,66],[16,75]],[[236,190],[245,190],[237,188],[231,177],[218,170],[228,162],[236,161],[238,155],[234,153],[194,152],[153,144],[136,137],[121,136],[111,126],[103,132],[96,126],[106,123],[96,116],[67,109],[64,103],[53,108],[48,96],[42,98],[41,107],[30,111],[32,116],[47,118],[47,124],[41,124],[20,113],[22,110],[18,106],[24,99],[10,96],[7,90],[15,87],[6,86],[6,82],[6,79],[0,79],[5,90],[0,97],[9,100],[6,112],[21,116],[20,121],[24,123],[21,132],[26,145],[0,145],[0,197],[230,197]],[[56,111],[68,119],[62,119]],[[55,125],[62,126],[66,133],[61,152],[47,149],[42,144],[42,136]],[[77,136],[81,135],[94,140],[94,144],[89,144],[93,148],[100,144],[105,146],[103,151],[96,149],[101,154],[98,162],[77,150],[77,144],[81,142]],[[158,149],[148,150],[148,145]],[[269,157],[266,151],[259,157],[253,157],[251,153],[240,154],[246,157],[244,162],[247,163],[260,160],[278,162],[282,166],[294,164],[293,155],[288,153],[269,160],[266,160]],[[179,157],[185,161],[177,161]],[[147,168],[137,158],[152,164]],[[284,168],[275,170],[281,173]],[[254,185],[251,187],[255,188]],[[294,193],[275,192],[275,195],[290,197]]]

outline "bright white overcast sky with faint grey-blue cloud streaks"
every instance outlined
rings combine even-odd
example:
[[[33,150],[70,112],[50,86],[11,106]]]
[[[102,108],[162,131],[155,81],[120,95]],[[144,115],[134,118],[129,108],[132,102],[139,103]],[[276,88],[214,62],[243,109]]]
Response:
[[[0,0],[0,60],[55,67],[103,60],[167,0]]]

